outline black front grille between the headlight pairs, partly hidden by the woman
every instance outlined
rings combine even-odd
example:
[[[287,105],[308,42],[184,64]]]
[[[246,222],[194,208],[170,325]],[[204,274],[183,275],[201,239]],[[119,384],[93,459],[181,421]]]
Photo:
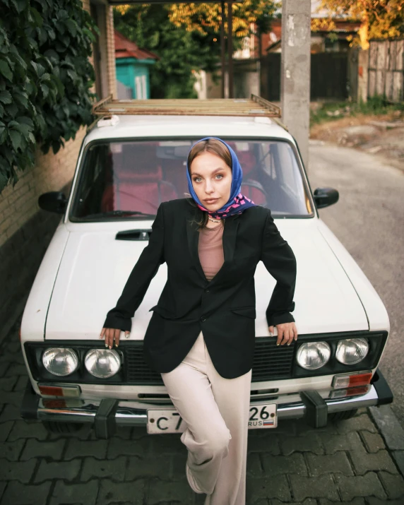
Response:
[[[295,345],[276,345],[276,338],[257,338],[252,369],[252,382],[289,379]],[[139,386],[162,386],[161,375],[153,372],[143,360],[143,342],[125,345],[126,380]]]

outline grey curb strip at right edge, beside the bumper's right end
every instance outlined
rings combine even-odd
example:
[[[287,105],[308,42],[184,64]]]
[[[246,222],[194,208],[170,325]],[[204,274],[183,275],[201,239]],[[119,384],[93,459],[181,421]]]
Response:
[[[398,470],[404,476],[404,429],[390,405],[369,407],[369,413],[391,452]]]

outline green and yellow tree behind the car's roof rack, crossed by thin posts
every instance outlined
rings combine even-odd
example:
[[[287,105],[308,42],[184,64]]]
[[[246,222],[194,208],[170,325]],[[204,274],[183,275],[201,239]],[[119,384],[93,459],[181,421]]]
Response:
[[[232,6],[234,50],[250,24],[269,27],[275,4],[246,0]],[[114,8],[115,28],[124,37],[158,54],[150,71],[154,98],[196,97],[194,72],[214,73],[220,61],[220,4],[138,4]],[[225,24],[227,30],[227,23]]]

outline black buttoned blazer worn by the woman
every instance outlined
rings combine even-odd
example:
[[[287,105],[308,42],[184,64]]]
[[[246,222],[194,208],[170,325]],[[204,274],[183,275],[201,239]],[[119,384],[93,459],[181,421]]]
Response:
[[[129,275],[105,328],[131,330],[159,266],[167,263],[167,283],[145,332],[146,362],[157,372],[171,372],[184,360],[200,331],[218,373],[238,377],[252,367],[255,343],[256,264],[263,261],[277,281],[266,309],[268,326],[295,321],[293,295],[296,259],[280,236],[271,210],[255,206],[225,219],[225,262],[208,281],[198,257],[199,232],[191,198],[161,203],[148,245]],[[269,292],[268,292],[269,297]]]

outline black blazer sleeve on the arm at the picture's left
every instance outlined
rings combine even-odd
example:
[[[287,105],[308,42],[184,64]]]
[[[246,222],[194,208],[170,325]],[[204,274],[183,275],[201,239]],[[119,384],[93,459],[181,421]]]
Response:
[[[148,245],[145,246],[133,267],[116,307],[107,312],[104,328],[131,331],[131,319],[141,304],[153,277],[158,273],[160,265],[165,262],[164,228],[163,203],[160,203]]]

